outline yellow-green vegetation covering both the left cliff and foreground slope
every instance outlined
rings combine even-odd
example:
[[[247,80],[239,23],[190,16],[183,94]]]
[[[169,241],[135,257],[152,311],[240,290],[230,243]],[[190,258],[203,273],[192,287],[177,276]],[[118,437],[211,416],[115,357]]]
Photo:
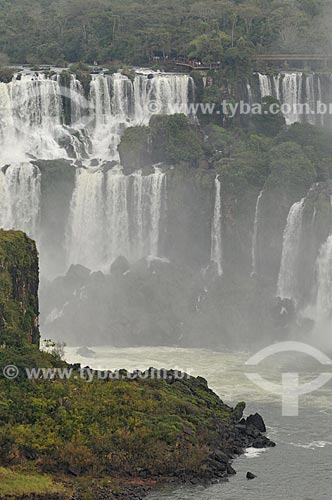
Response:
[[[218,430],[234,428],[237,411],[224,405],[204,379],[95,376],[33,345],[37,327],[38,257],[24,233],[0,231],[0,494],[58,491],[47,476],[26,470],[75,475],[206,474],[209,452],[227,441]],[[33,316],[34,315],[34,316]],[[36,332],[35,332],[36,333]],[[15,380],[4,368],[15,365]],[[61,376],[29,378],[35,369],[62,369]],[[70,373],[69,370],[72,370]],[[45,372],[44,372],[45,373]],[[70,375],[70,377],[69,377]]]

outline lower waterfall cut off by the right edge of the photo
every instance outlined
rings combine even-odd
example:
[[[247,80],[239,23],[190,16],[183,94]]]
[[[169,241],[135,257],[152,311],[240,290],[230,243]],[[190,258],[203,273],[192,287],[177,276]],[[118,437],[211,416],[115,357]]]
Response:
[[[317,259],[317,317],[332,319],[332,235],[322,246]]]

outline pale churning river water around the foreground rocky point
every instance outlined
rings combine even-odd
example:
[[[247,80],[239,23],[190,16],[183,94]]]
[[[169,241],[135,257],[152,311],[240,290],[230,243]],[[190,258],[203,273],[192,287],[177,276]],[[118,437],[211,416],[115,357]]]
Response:
[[[246,401],[246,413],[258,411],[264,416],[268,435],[277,443],[269,450],[247,450],[237,459],[236,476],[228,482],[209,487],[167,488],[153,492],[149,500],[323,500],[331,498],[332,453],[332,381],[318,391],[302,396],[298,417],[284,417],[280,398],[262,391],[245,375],[257,372],[280,384],[281,374],[298,372],[301,383],[316,378],[321,369],[316,362],[300,354],[276,354],[259,366],[248,368],[245,352],[213,352],[202,349],[170,347],[91,348],[95,355],[85,358],[77,347],[66,349],[69,362],[94,369],[128,370],[175,368],[208,380],[225,403]],[[246,472],[257,475],[253,481]]]

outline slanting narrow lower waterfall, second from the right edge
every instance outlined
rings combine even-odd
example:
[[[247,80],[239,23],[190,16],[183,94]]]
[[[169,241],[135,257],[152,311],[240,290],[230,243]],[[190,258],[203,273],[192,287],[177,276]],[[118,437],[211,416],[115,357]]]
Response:
[[[291,207],[283,235],[277,295],[297,299],[298,258],[302,234],[304,198]]]

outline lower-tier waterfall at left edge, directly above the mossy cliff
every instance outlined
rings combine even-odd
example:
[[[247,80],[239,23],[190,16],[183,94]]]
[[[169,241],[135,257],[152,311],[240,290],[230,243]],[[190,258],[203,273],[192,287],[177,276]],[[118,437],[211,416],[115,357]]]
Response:
[[[0,170],[0,227],[38,236],[40,171],[30,164],[9,165]]]

